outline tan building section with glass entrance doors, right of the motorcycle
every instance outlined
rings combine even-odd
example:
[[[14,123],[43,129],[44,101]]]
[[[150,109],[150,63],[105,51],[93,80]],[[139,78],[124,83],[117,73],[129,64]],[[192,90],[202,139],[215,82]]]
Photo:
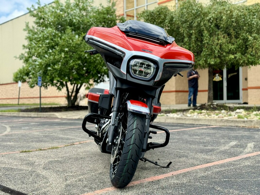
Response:
[[[209,0],[197,0],[200,3],[209,3]],[[146,9],[153,9],[160,5],[166,5],[170,9],[178,8],[181,0],[124,0],[124,16],[127,20],[137,19],[137,14]],[[243,3],[251,5],[259,0],[231,0],[235,4]],[[174,35],[172,35],[174,37]],[[178,44],[178,42],[177,42]],[[195,56],[196,58],[196,56]],[[208,97],[208,69],[197,70],[200,74],[197,103],[206,103]],[[213,96],[218,103],[244,103],[260,104],[260,78],[257,76],[260,66],[251,68],[243,67],[214,71]],[[188,81],[187,71],[182,72],[183,77],[173,77],[164,88],[161,95],[161,103],[187,104]],[[221,79],[215,79],[220,76]]]

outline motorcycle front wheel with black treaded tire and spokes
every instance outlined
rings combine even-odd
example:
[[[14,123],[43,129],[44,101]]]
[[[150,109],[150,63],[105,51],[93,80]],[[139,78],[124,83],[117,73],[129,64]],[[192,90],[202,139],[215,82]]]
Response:
[[[144,142],[145,116],[128,112],[127,129],[124,119],[118,125],[116,145],[112,148],[110,180],[118,188],[127,186],[132,180],[142,155]]]

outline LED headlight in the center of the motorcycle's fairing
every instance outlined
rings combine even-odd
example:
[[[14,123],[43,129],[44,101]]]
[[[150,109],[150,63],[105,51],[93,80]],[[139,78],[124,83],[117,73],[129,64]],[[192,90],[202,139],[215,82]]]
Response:
[[[134,59],[130,61],[130,71],[133,75],[148,79],[153,75],[155,66],[152,62],[142,59]]]

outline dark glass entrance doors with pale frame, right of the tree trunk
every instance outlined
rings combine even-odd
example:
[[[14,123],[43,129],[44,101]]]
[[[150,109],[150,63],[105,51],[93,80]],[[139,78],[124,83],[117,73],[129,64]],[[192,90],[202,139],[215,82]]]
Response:
[[[213,70],[213,101],[242,103],[242,68]]]

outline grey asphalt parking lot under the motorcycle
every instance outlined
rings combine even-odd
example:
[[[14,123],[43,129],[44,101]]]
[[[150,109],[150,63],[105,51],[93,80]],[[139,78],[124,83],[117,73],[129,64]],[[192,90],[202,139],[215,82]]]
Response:
[[[1,116],[0,195],[260,194],[260,129],[154,123],[170,130],[170,142],[144,157],[161,165],[172,161],[170,168],[139,161],[132,182],[116,189],[110,155],[99,151],[81,124]],[[162,140],[164,133],[153,135],[152,141]]]

